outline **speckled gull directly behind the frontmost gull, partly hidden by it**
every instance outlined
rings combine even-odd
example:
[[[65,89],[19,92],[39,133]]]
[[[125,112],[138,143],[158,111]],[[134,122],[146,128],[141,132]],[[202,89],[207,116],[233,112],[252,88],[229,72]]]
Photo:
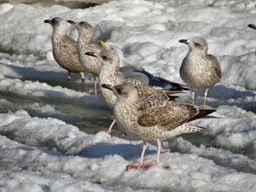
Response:
[[[161,100],[172,99],[173,93],[171,90],[164,90],[162,88],[154,88],[137,79],[127,79],[122,73],[119,73],[119,50],[113,46],[102,51],[101,54],[94,52],[87,52],[85,55],[95,56],[102,61],[102,67],[99,74],[99,84],[130,84],[135,87],[138,91],[139,96],[145,96],[148,98],[158,98]],[[102,96],[108,106],[108,108],[113,109],[115,103],[117,102],[117,97],[113,94],[113,91],[103,89],[101,92]],[[178,92],[180,93],[180,91]],[[111,133],[113,125],[115,124],[115,119],[113,119],[112,124],[108,128],[108,134]]]

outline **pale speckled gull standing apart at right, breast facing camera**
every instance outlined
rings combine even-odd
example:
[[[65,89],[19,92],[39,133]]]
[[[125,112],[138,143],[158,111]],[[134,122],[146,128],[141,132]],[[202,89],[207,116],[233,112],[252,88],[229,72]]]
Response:
[[[194,89],[206,89],[202,106],[202,108],[205,108],[209,88],[221,79],[221,68],[218,60],[215,56],[207,54],[208,45],[204,38],[181,39],[179,42],[189,46],[189,53],[183,59],[179,69],[180,77],[191,87],[193,105]]]

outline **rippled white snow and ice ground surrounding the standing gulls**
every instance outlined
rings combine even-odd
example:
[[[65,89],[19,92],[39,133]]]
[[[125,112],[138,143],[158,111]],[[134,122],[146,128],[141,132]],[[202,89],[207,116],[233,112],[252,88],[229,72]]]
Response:
[[[22,3],[0,4],[1,191],[256,191],[256,2],[249,0],[112,1],[89,9]],[[111,112],[90,96],[93,79],[59,67],[51,26],[60,16],[85,20],[96,40],[115,44],[124,63],[183,83],[178,69],[188,48],[181,38],[202,36],[223,78],[209,91],[216,119],[195,123],[212,129],[163,141],[161,164],[125,171],[139,159],[142,141],[103,132]],[[255,24],[255,23],[254,23]],[[68,35],[78,38],[73,26]],[[203,90],[196,90],[196,104]],[[190,102],[184,94],[180,102]],[[145,161],[153,162],[154,143]]]

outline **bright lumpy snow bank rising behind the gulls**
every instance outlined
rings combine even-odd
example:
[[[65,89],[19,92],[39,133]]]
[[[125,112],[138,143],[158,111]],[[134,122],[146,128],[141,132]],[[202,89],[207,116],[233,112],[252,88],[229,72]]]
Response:
[[[24,4],[13,7],[2,4],[0,9],[3,23],[0,44],[7,53],[33,54],[42,61],[50,61],[52,28],[43,21],[54,16],[86,20],[95,26],[96,39],[118,44],[123,49],[126,61],[154,75],[182,82],[177,69],[188,49],[178,40],[203,36],[209,43],[209,52],[218,57],[223,68],[222,84],[256,89],[253,78],[256,34],[247,27],[256,17],[250,1],[154,3],[137,0],[105,3],[92,9],[67,9],[59,5],[36,9]],[[69,34],[77,38],[76,29],[73,26],[69,29]]]

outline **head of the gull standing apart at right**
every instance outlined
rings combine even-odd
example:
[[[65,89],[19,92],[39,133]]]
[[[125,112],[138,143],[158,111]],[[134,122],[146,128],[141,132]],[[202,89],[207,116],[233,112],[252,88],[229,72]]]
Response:
[[[198,53],[206,53],[207,54],[207,41],[201,37],[194,37],[188,39],[181,39],[178,41],[179,43],[187,44],[191,51],[197,51]]]

